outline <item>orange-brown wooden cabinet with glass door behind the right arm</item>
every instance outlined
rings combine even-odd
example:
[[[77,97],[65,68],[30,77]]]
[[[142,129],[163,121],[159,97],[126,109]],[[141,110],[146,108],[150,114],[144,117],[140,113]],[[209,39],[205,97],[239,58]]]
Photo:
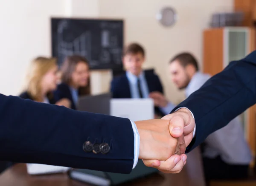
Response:
[[[203,71],[215,75],[229,62],[244,58],[255,49],[255,31],[250,27],[207,29],[203,34]],[[256,152],[255,105],[242,115],[244,133],[253,155]]]

